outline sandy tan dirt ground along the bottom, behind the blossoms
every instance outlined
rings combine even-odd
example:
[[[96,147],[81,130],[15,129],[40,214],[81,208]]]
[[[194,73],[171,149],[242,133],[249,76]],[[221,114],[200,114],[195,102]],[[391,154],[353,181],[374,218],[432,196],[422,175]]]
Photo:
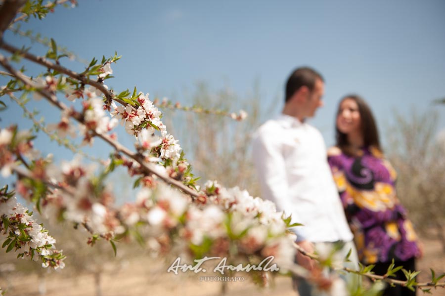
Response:
[[[436,274],[445,272],[445,254],[437,241],[423,240],[425,255],[418,261],[417,270],[422,270],[419,282],[430,279],[429,268]],[[223,295],[223,284],[210,279],[200,280],[202,274],[192,272],[167,273],[161,259],[132,259],[126,261],[118,270],[104,271],[100,276],[100,291],[94,274],[70,275],[61,272],[39,277],[37,274],[20,275],[18,272],[0,273],[0,287],[6,296],[219,296]],[[1,262],[0,262],[1,264]],[[106,269],[106,268],[105,268]],[[210,276],[210,274],[206,274]],[[220,275],[221,276],[221,275]],[[243,276],[243,274],[237,274]],[[41,291],[39,291],[39,285]],[[432,290],[432,295],[445,296],[445,289]],[[244,277],[244,281],[228,282],[225,294],[230,296],[296,296],[287,277],[276,277],[270,287],[260,289]],[[418,295],[423,293],[418,292]]]

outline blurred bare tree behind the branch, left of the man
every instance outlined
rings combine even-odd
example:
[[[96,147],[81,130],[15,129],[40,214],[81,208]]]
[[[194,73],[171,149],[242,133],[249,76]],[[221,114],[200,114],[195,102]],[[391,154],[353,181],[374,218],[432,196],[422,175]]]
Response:
[[[205,109],[247,112],[248,117],[238,122],[223,116],[163,110],[164,118],[170,120],[166,124],[179,139],[196,176],[218,180],[226,187],[239,186],[254,197],[260,196],[250,155],[252,135],[271,114],[277,113],[280,104],[264,106],[261,103],[264,100],[258,81],[245,96],[235,93],[229,86],[212,90],[207,83],[200,82],[191,92],[184,91],[182,101],[184,105]]]

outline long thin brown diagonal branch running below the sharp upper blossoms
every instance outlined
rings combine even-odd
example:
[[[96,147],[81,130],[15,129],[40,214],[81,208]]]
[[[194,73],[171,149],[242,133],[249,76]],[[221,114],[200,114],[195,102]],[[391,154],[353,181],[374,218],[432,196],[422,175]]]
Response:
[[[13,74],[15,77],[17,77],[22,83],[24,83],[26,85],[26,87],[30,87],[30,88],[33,87],[32,81],[27,76],[25,76],[21,72],[15,70],[11,65],[9,65],[6,58],[3,57],[3,55],[1,55],[1,54],[0,54],[0,64],[7,71],[9,71],[11,74]],[[50,93],[49,91],[46,91],[45,89],[36,89],[36,91],[39,94],[41,94],[43,97],[45,97],[54,106],[56,106],[57,108],[59,108],[62,111],[65,111],[67,114],[69,114],[70,117],[74,118],[76,121],[78,121],[81,124],[85,124],[85,120],[84,120],[83,116],[76,111],[70,110],[65,104],[63,104],[62,102],[60,102],[57,99],[56,95],[54,95],[53,93]],[[154,174],[154,175],[158,176],[164,182],[166,182],[170,185],[176,186],[178,189],[187,193],[191,197],[198,198],[200,196],[198,194],[198,192],[185,186],[184,184],[182,184],[182,182],[175,180],[175,179],[153,169],[152,166],[150,166],[149,164],[146,164],[138,154],[132,152],[127,147],[125,147],[122,144],[120,144],[119,142],[113,140],[109,135],[107,135],[105,133],[97,133],[95,130],[91,130],[91,132],[95,136],[100,137],[105,142],[110,144],[117,152],[121,152],[121,153],[127,155],[128,157],[134,159],[134,161],[136,161],[147,174]]]

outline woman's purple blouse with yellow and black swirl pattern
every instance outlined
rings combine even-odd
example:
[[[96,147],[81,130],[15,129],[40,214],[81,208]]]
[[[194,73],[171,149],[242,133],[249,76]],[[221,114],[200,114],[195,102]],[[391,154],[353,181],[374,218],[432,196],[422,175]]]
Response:
[[[396,171],[380,151],[364,148],[360,156],[348,156],[333,147],[328,162],[360,261],[406,261],[419,255],[411,221],[397,198]]]

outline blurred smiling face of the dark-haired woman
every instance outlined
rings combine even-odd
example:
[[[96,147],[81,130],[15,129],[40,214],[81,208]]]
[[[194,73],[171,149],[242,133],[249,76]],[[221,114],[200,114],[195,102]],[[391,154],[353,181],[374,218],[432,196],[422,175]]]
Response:
[[[355,100],[346,98],[340,103],[337,128],[345,134],[360,132],[360,113]]]

